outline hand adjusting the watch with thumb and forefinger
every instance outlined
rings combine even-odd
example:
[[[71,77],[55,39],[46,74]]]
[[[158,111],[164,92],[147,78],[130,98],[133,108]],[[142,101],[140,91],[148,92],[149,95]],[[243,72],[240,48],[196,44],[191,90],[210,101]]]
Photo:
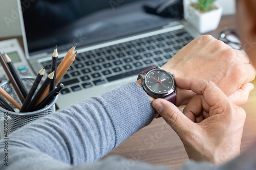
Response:
[[[183,110],[184,114],[163,99],[156,99],[152,105],[179,135],[189,159],[220,164],[237,156],[246,114],[231,100],[246,102],[253,85],[245,84],[243,92],[239,89],[229,99],[211,81],[198,78],[175,80],[181,89],[196,93]]]

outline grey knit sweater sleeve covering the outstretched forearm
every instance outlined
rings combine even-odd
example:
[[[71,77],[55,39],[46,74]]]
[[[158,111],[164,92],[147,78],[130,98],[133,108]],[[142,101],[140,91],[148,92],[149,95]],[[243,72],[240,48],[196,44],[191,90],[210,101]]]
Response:
[[[9,136],[9,147],[36,150],[71,164],[96,161],[150,124],[153,115],[146,93],[131,83],[20,128]]]

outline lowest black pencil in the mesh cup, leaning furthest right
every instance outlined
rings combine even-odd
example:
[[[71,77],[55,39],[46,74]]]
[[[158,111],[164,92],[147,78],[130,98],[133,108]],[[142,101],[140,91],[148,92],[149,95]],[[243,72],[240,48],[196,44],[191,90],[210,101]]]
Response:
[[[55,87],[47,96],[44,100],[42,100],[35,108],[35,110],[39,110],[42,109],[44,107],[46,107],[47,105],[49,105],[55,98],[56,95],[58,95],[58,93],[60,92],[60,90],[64,87],[63,84],[59,84],[57,85],[57,87]]]

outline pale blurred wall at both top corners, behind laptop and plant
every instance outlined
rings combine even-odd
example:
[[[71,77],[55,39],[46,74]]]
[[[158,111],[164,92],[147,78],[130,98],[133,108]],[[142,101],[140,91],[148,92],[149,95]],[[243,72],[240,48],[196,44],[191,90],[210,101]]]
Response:
[[[0,0],[0,38],[22,35],[19,17],[17,16],[17,0]],[[191,0],[184,0],[191,1]],[[217,0],[223,6],[223,14],[233,14],[236,11],[234,0]]]

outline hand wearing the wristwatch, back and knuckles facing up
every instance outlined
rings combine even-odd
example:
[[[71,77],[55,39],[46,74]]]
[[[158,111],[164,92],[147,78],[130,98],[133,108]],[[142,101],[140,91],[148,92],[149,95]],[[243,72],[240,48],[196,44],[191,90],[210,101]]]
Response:
[[[162,68],[176,77],[195,77],[214,82],[227,96],[255,78],[255,69],[241,51],[210,35],[183,47]],[[187,104],[195,93],[177,89],[177,106]],[[239,102],[239,101],[238,101]]]

